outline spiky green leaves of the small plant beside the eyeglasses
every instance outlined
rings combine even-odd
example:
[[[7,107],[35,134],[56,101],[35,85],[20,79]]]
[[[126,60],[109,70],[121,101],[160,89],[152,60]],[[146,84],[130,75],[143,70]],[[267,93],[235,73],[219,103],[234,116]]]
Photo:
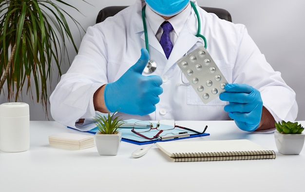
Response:
[[[106,116],[102,116],[97,114],[93,120],[95,121],[95,125],[101,134],[116,134],[119,127],[121,127],[125,122],[122,119],[118,119],[119,116],[114,118],[115,112],[110,116],[108,113],[108,118]]]

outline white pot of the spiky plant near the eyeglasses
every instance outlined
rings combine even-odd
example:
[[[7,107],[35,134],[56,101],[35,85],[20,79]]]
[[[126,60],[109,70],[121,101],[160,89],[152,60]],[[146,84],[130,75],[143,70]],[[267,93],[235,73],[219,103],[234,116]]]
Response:
[[[95,133],[95,146],[99,155],[116,155],[122,140],[122,132],[117,134]]]

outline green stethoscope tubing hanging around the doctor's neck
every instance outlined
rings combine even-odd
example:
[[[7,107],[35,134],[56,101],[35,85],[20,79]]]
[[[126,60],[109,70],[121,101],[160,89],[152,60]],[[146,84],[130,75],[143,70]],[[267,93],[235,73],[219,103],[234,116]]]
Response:
[[[208,46],[207,39],[206,39],[205,36],[200,34],[200,31],[201,31],[201,21],[200,21],[198,10],[197,10],[195,4],[192,1],[190,1],[190,3],[191,3],[191,7],[193,8],[193,10],[194,10],[194,12],[196,14],[197,21],[198,21],[198,30],[197,30],[197,34],[195,36],[196,37],[200,37],[200,38],[203,39],[203,41],[205,43],[204,46],[207,49],[207,46]],[[144,27],[145,46],[146,46],[147,51],[149,52],[148,35],[147,35],[147,27],[146,27],[146,20],[145,20],[145,7],[146,7],[146,5],[144,5],[144,7],[142,8],[142,21],[143,21],[143,27]]]

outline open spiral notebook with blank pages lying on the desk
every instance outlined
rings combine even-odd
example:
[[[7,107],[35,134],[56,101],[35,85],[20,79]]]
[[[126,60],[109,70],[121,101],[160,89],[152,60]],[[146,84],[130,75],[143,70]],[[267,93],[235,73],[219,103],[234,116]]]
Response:
[[[275,159],[275,152],[247,139],[162,142],[156,146],[175,162]]]

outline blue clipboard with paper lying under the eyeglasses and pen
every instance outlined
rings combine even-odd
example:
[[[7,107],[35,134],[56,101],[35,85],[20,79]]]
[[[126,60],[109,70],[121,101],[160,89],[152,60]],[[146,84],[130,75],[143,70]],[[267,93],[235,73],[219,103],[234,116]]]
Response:
[[[136,119],[130,119],[130,120],[126,120],[125,122],[127,124],[133,124],[134,122],[139,121]],[[71,127],[68,127],[71,128]],[[72,128],[75,129],[75,128]],[[188,132],[188,136],[187,137],[175,137],[172,139],[166,139],[166,140],[161,140],[160,138],[155,138],[153,140],[149,140],[149,139],[145,139],[141,136],[138,136],[137,134],[132,132],[132,127],[128,127],[128,126],[124,126],[122,128],[119,128],[120,131],[122,132],[122,141],[128,142],[128,143],[133,143],[136,145],[145,145],[145,144],[150,144],[150,143],[156,143],[156,142],[164,142],[164,141],[172,141],[172,140],[180,140],[180,139],[188,139],[188,138],[193,138],[193,137],[202,137],[202,136],[207,136],[210,135],[210,133],[196,133],[196,132],[192,132],[187,130]],[[78,130],[78,129],[76,129]],[[88,131],[84,131],[84,132],[88,132],[88,133],[92,133],[95,134],[98,131],[97,127],[88,130]],[[147,137],[153,137],[158,130],[151,130],[146,132],[145,136]],[[172,130],[164,130],[162,132],[162,135],[179,135],[180,133],[186,132],[185,129],[182,128],[174,128]]]

